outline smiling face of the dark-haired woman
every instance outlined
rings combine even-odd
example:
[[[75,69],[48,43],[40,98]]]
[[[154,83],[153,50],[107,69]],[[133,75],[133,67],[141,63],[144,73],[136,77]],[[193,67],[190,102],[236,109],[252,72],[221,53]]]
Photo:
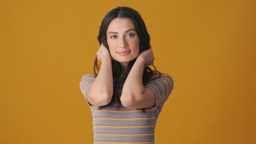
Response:
[[[129,18],[113,19],[107,29],[107,44],[113,59],[123,67],[139,55],[139,36]]]

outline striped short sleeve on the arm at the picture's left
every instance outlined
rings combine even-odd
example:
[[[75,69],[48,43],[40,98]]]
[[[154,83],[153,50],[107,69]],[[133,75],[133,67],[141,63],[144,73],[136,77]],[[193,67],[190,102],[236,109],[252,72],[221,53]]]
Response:
[[[93,81],[95,80],[95,75],[83,75],[83,77],[81,78],[80,81],[80,90],[82,91],[83,95],[85,96],[85,99],[87,101],[87,103],[92,106],[92,104],[89,103],[88,99],[87,99],[87,91],[88,89],[91,87],[91,84],[93,83]]]

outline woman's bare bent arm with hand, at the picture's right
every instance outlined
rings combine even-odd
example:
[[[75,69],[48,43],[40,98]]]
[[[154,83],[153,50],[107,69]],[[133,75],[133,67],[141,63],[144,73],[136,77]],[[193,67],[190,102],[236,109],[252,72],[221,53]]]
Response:
[[[123,85],[121,103],[128,108],[146,108],[155,104],[155,94],[142,83],[143,69],[154,63],[152,49],[143,51],[136,59]]]

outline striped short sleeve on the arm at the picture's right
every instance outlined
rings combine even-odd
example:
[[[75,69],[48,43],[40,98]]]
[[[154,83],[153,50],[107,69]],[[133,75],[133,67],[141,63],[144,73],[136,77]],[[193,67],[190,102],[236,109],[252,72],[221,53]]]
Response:
[[[149,81],[144,87],[151,89],[155,93],[155,109],[158,104],[165,102],[173,90],[173,80],[169,75],[161,75],[155,80]]]

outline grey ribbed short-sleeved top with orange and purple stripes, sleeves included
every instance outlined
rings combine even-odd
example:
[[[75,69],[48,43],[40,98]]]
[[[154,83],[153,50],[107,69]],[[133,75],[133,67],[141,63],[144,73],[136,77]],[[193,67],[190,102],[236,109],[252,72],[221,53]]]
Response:
[[[114,90],[120,98],[123,84],[127,75],[121,75],[114,85]],[[94,75],[83,75],[80,89],[85,96]],[[94,144],[155,144],[155,125],[163,104],[173,90],[173,81],[168,75],[163,75],[149,81],[144,87],[150,88],[155,93],[155,105],[141,109],[117,107],[118,101],[99,109],[91,105],[93,117]]]

